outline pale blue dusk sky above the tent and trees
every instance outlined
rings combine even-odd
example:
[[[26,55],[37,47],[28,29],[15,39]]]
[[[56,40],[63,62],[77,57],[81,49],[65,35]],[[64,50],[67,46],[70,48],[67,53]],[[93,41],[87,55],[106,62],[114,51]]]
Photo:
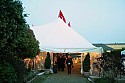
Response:
[[[125,43],[125,0],[22,0],[27,23],[43,25],[62,10],[67,24],[91,43]]]

